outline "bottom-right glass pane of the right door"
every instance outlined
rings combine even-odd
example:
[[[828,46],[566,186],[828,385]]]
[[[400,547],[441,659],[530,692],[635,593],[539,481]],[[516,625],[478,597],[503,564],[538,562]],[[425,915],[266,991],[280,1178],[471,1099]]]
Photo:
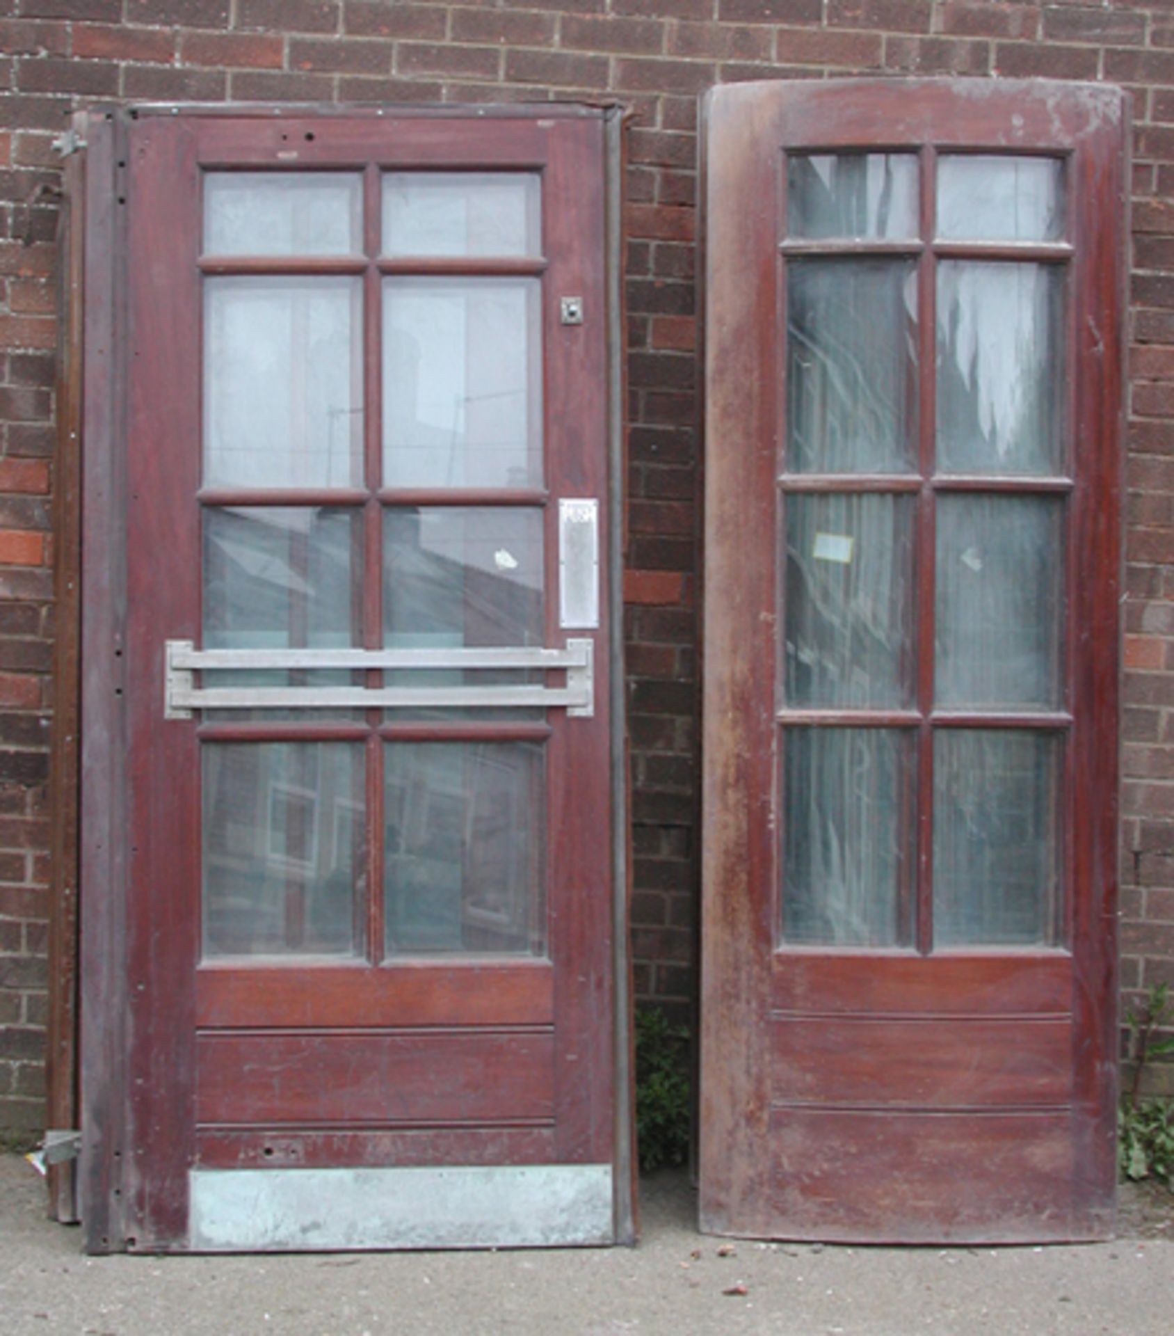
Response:
[[[1060,740],[1027,729],[934,737],[934,945],[1059,939]]]

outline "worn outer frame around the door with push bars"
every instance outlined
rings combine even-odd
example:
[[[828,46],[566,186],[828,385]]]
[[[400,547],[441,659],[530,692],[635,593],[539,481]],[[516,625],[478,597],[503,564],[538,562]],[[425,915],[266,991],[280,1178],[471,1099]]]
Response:
[[[331,120],[351,118],[450,120],[486,119],[596,119],[604,135],[604,227],[606,289],[606,496],[608,613],[612,816],[612,975],[613,1015],[613,1240],[636,1238],[634,1085],[632,1062],[632,983],[628,934],[629,828],[628,767],[624,724],[622,536],[624,536],[624,311],[622,311],[622,156],[624,111],[618,106],[577,104],[446,106],[446,107],[321,107],[299,104],[143,106],[108,107],[72,118],[72,151],[84,150],[84,170],[75,172],[76,215],[84,215],[84,298],[80,347],[72,347],[81,367],[81,488],[80,506],[80,632],[81,715],[79,823],[79,926],[72,935],[68,894],[55,896],[53,918],[59,957],[76,951],[80,962],[80,1130],[77,1197],[83,1245],[92,1253],[134,1250],[128,1198],[139,1178],[135,1148],[128,1144],[131,1063],[127,1017],[134,1007],[128,978],[127,884],[135,832],[128,810],[130,711],[127,625],[127,162],[128,130],[147,116],[276,118]],[[79,179],[80,178],[80,179]],[[75,216],[76,216],[75,215]],[[75,294],[76,295],[76,294]],[[84,498],[84,504],[83,504]],[[76,517],[73,517],[76,522]],[[160,684],[160,717],[163,708]],[[64,884],[64,883],[63,883]],[[57,1047],[71,1034],[65,1017],[51,1035]],[[64,1051],[63,1046],[61,1051]],[[61,1070],[65,1081],[71,1071]]]

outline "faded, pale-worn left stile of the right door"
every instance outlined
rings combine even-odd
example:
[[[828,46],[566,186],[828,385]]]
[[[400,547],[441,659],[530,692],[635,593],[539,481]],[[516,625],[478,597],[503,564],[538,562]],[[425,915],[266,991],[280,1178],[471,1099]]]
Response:
[[[724,1233],[751,1217],[765,1228],[764,1184],[753,1162],[769,1126],[771,1088],[767,1014],[771,993],[769,912],[756,887],[769,884],[776,866],[773,712],[775,617],[751,609],[776,607],[769,561],[747,553],[775,550],[779,367],[775,278],[777,219],[773,182],[763,182],[760,150],[771,114],[753,99],[704,104],[707,123],[707,333],[705,333],[705,566],[707,582],[731,597],[707,603],[703,688],[707,774],[713,782],[703,808],[703,882],[721,887],[705,895],[701,935],[701,1228]],[[765,159],[772,160],[772,156]],[[769,168],[767,168],[769,170]],[[744,207],[721,208],[724,199]],[[749,331],[749,337],[748,337]],[[761,358],[761,363],[760,363]],[[763,383],[765,382],[765,383]],[[761,394],[748,387],[763,385]],[[731,448],[717,450],[717,441]],[[712,767],[723,758],[721,771]],[[720,791],[721,802],[715,800]],[[729,1041],[731,1026],[739,1041]]]

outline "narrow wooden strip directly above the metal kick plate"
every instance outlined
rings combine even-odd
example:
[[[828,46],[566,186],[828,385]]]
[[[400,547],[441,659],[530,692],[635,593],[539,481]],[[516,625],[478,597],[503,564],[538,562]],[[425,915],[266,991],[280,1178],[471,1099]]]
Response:
[[[196,1133],[202,1169],[353,1168],[358,1165],[550,1164],[550,1126],[371,1129],[223,1129]]]

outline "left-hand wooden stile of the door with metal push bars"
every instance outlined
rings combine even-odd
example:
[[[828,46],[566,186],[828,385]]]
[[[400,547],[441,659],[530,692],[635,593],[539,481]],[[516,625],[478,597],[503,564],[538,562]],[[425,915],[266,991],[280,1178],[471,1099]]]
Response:
[[[178,166],[174,179],[159,164]],[[128,1047],[131,1134],[127,1246],[168,1249],[187,1237],[187,1165],[195,1154],[199,743],[194,721],[160,723],[162,628],[198,640],[200,608],[199,190],[188,126],[139,123],[130,159],[130,254],[152,257],[131,285],[127,430],[127,703],[130,859]],[[163,239],[166,238],[166,242]],[[160,250],[174,261],[160,262]],[[158,331],[167,330],[167,338]],[[148,335],[147,331],[151,331]],[[162,393],[160,393],[162,391]],[[162,562],[167,558],[167,573]],[[158,558],[159,565],[152,558]],[[168,782],[160,784],[159,775]],[[166,1079],[163,1074],[166,1073]]]

